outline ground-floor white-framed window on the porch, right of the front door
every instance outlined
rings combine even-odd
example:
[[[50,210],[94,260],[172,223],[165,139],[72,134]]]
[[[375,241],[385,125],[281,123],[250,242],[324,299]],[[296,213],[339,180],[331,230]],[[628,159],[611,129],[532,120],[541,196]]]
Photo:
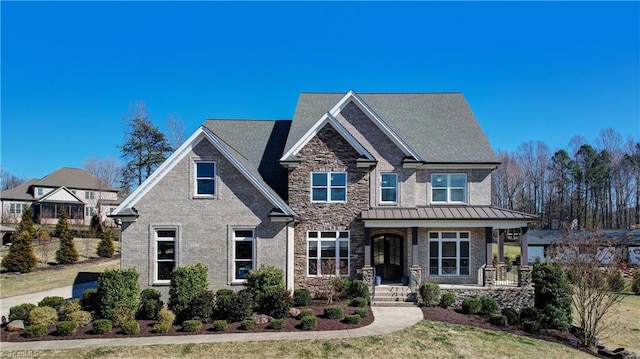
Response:
[[[469,275],[469,232],[429,232],[429,275]]]

